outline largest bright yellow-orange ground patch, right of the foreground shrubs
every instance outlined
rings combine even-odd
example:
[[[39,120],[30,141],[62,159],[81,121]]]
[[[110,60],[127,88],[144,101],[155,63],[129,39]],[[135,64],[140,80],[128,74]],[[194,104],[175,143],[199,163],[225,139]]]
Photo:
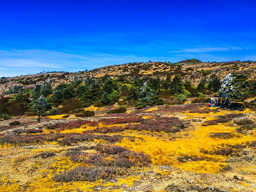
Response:
[[[140,135],[144,139],[135,140],[123,139],[118,145],[129,148],[136,152],[143,151],[152,157],[156,165],[172,165],[182,170],[202,172],[202,173],[219,173],[226,163],[223,161],[227,158],[222,155],[210,155],[201,153],[201,149],[213,150],[222,148],[223,144],[236,145],[255,140],[251,135],[238,134],[239,137],[230,139],[218,139],[209,137],[212,132],[233,132],[235,127],[226,125],[198,126],[195,131],[189,132],[189,136],[183,139],[170,141],[162,138],[151,137],[149,135]],[[127,135],[138,135],[136,132],[129,132]],[[167,137],[167,136],[166,136]],[[203,159],[203,161],[186,161],[181,163],[177,157],[192,157]]]

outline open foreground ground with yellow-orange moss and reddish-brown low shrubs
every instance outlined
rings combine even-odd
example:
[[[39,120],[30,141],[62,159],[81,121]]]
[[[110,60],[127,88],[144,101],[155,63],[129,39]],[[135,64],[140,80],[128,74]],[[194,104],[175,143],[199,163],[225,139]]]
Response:
[[[1,132],[0,191],[256,191],[253,110],[63,115]]]

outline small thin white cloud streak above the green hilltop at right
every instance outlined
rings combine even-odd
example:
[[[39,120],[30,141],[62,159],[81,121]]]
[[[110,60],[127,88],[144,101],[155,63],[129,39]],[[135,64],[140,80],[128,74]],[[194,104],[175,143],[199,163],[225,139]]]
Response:
[[[169,51],[169,53],[206,53],[215,51],[234,51],[242,50],[241,47],[231,46],[231,47],[197,47],[193,49],[181,49],[175,51]]]

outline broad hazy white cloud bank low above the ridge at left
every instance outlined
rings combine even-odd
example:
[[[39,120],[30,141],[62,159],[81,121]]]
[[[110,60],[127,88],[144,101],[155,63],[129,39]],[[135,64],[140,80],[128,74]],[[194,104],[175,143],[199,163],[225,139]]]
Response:
[[[60,52],[49,50],[0,50],[0,77],[28,75],[41,71],[83,71],[129,62],[162,61],[165,58],[106,54],[99,52]]]

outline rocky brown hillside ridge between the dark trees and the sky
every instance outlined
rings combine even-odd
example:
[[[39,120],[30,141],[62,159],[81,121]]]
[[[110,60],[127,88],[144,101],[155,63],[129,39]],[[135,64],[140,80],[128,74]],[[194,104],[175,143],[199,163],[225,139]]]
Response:
[[[191,63],[189,61],[179,62],[178,64],[165,62],[147,62],[147,63],[126,63],[123,65],[106,66],[91,71],[82,71],[79,73],[46,73],[25,75],[18,77],[9,77],[0,79],[0,95],[5,95],[6,91],[14,86],[34,87],[36,84],[50,82],[53,87],[60,83],[69,83],[73,81],[74,76],[85,78],[87,76],[102,77],[105,74],[113,78],[120,76],[132,78],[135,75],[143,77],[165,78],[174,77],[181,74],[182,79],[198,84],[203,77],[210,77],[215,74],[223,79],[229,73],[239,73],[247,75],[249,79],[256,79],[256,61],[254,62],[221,62],[221,63]]]

